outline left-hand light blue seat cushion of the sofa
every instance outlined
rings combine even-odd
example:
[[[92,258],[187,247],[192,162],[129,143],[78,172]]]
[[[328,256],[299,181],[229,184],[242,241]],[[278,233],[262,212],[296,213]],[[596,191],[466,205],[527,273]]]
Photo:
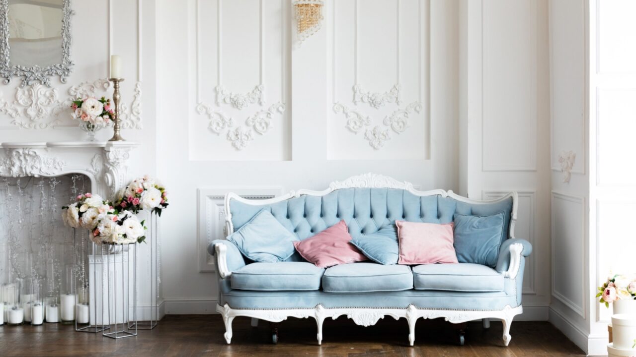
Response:
[[[318,290],[324,269],[307,262],[252,263],[233,271],[233,289]]]

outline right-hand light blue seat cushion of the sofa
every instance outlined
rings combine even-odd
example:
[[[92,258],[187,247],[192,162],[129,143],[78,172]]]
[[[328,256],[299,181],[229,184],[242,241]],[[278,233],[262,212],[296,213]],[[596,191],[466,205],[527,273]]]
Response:
[[[417,290],[502,292],[504,276],[481,264],[422,264],[413,267]]]

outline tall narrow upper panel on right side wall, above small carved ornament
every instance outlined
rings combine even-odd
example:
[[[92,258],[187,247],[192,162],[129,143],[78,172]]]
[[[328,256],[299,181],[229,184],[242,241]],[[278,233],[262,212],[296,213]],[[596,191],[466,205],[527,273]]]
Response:
[[[585,173],[585,31],[584,4],[550,1],[550,82],[553,170],[561,170],[562,152],[574,151],[572,171]]]

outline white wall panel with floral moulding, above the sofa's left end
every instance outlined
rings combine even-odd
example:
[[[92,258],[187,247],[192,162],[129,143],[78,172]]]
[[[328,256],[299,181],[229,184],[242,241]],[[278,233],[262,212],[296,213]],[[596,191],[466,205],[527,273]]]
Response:
[[[289,160],[287,1],[195,4],[190,159]]]

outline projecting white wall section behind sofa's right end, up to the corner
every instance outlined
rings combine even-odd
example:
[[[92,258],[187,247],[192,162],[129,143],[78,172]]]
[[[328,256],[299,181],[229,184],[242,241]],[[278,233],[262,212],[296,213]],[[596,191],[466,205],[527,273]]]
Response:
[[[517,238],[532,243],[523,319],[550,304],[550,92],[547,1],[460,1],[460,187],[520,196]]]

